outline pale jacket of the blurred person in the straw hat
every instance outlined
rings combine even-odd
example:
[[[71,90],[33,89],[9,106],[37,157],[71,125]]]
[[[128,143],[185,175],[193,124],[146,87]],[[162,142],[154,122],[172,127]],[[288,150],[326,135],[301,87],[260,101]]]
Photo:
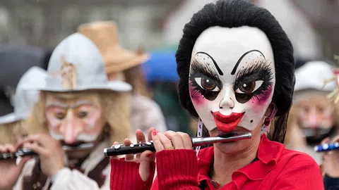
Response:
[[[130,139],[132,143],[136,142],[136,129],[141,129],[146,138],[150,127],[155,127],[159,132],[167,131],[165,117],[160,106],[146,96],[133,95],[131,114]]]

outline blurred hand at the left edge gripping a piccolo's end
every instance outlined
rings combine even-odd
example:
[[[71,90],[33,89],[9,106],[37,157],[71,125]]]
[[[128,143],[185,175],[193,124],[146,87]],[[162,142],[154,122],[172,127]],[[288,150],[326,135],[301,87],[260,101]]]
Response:
[[[0,153],[15,153],[16,147],[12,144],[0,145]],[[16,165],[16,160],[0,161],[0,189],[13,189],[18,177],[23,170],[25,163],[32,157],[24,157],[20,163]]]

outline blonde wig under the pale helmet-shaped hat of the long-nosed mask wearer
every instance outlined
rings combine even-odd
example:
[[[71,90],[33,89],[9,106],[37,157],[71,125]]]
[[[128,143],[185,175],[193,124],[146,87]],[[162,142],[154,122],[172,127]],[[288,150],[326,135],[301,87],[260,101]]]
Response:
[[[114,141],[123,141],[129,137],[131,130],[130,126],[130,102],[131,94],[128,92],[116,91],[78,91],[78,92],[47,92],[40,93],[40,101],[35,104],[32,109],[32,115],[28,119],[29,134],[36,134],[40,132],[48,133],[47,121],[45,117],[44,105],[47,94],[58,94],[64,99],[74,99],[81,96],[94,95],[100,100],[102,112],[107,125],[104,127],[102,133],[109,136]]]

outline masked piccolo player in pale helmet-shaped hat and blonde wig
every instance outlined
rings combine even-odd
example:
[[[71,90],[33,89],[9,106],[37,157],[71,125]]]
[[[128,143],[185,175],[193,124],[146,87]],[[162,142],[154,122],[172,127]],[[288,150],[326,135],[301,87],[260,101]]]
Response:
[[[28,120],[30,135],[17,145],[38,156],[22,172],[21,163],[0,162],[12,168],[0,170],[0,189],[108,189],[103,149],[129,134],[131,85],[109,82],[97,46],[79,33],[54,49],[47,72],[44,85],[26,87],[41,95]]]

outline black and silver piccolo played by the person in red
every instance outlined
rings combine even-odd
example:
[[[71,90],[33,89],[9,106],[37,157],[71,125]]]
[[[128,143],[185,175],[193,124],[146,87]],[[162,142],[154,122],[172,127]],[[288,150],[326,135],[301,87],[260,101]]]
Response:
[[[245,134],[222,134],[218,137],[194,137],[191,138],[192,146],[203,146],[206,144],[214,144],[219,142],[228,142],[228,141],[238,141],[242,139],[251,139],[251,133]],[[130,146],[123,146],[122,144],[117,144],[111,148],[105,148],[105,156],[119,156],[124,154],[135,154],[142,153],[144,151],[155,151],[153,141],[140,143],[140,144],[131,144]]]

